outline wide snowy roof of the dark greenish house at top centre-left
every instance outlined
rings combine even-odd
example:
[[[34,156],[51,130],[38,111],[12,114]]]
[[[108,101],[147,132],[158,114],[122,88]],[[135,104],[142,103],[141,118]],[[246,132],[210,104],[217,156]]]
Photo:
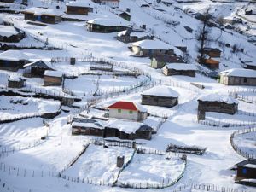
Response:
[[[96,18],[88,20],[87,23],[100,26],[129,26],[129,23],[126,20],[118,18]]]

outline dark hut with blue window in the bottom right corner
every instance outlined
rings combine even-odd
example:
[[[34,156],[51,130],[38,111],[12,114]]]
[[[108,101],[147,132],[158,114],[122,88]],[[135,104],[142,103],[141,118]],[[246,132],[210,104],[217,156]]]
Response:
[[[256,186],[256,159],[242,160],[236,166],[236,183]]]

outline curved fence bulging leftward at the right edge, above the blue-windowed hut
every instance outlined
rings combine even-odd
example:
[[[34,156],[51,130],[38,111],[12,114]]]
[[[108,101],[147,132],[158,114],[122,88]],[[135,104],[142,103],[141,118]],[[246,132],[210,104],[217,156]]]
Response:
[[[234,137],[243,135],[243,134],[247,134],[250,132],[256,132],[256,127],[247,128],[247,129],[243,129],[243,130],[236,130],[230,136],[230,143],[231,143],[232,148],[234,148],[234,150],[236,151],[237,154],[240,154],[241,156],[243,156],[245,158],[255,158],[255,154],[248,153],[247,151],[244,151],[243,149],[241,149],[234,142]]]

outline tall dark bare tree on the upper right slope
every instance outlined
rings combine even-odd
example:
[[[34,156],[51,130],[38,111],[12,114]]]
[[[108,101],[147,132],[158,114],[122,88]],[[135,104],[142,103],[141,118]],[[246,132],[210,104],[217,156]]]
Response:
[[[195,33],[195,38],[198,42],[198,44],[196,45],[196,49],[198,52],[199,63],[203,63],[205,59],[205,48],[211,38],[210,37],[211,29],[208,26],[209,20],[211,19],[211,15],[209,14],[209,11],[210,11],[210,8],[208,8],[206,12],[201,15],[202,23],[199,29],[197,30],[197,32]]]

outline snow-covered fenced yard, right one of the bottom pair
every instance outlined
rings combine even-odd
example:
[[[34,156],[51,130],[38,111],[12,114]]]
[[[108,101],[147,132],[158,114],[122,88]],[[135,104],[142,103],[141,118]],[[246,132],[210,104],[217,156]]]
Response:
[[[131,164],[120,173],[118,185],[146,189],[170,186],[183,175],[185,163],[177,157],[135,154]]]

